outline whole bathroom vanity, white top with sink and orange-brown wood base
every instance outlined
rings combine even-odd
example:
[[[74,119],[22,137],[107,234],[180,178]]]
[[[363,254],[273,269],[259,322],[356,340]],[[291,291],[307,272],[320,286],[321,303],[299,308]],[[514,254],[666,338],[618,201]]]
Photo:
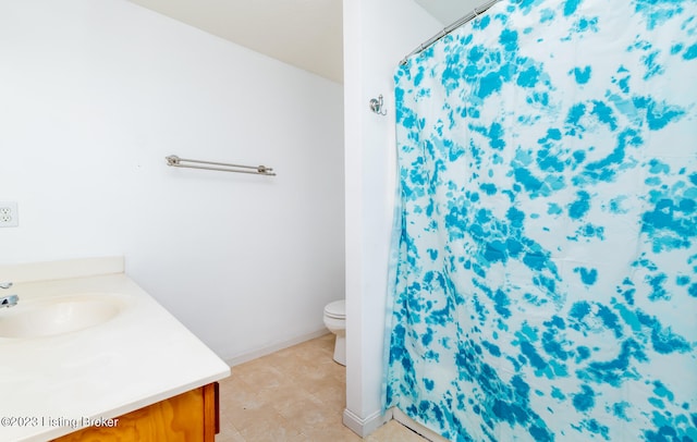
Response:
[[[215,441],[230,367],[121,257],[0,265],[0,440]]]

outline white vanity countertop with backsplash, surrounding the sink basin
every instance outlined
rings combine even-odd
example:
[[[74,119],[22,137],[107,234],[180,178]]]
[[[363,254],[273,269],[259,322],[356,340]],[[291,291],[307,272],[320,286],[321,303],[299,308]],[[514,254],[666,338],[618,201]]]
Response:
[[[69,278],[45,280],[57,271]],[[224,361],[123,273],[121,258],[0,266],[5,281],[14,286],[0,296],[20,296],[10,309],[90,294],[115,297],[121,310],[80,331],[0,337],[1,441],[57,438],[78,430],[72,426],[84,418],[114,418],[230,375]],[[10,309],[0,309],[0,323]]]

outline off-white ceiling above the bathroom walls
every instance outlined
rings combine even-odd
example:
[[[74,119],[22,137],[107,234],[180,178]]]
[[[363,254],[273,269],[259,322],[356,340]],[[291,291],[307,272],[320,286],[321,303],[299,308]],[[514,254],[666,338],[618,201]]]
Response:
[[[342,0],[130,1],[296,67],[343,83]],[[415,1],[443,23],[443,26],[484,2]]]

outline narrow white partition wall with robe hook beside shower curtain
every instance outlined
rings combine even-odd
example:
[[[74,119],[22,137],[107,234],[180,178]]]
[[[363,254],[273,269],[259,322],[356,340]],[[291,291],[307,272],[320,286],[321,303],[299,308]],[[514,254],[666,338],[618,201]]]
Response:
[[[344,1],[346,410],[367,434],[381,422],[387,268],[395,192],[394,82],[400,60],[442,28],[412,0]],[[387,116],[372,113],[382,94]]]

